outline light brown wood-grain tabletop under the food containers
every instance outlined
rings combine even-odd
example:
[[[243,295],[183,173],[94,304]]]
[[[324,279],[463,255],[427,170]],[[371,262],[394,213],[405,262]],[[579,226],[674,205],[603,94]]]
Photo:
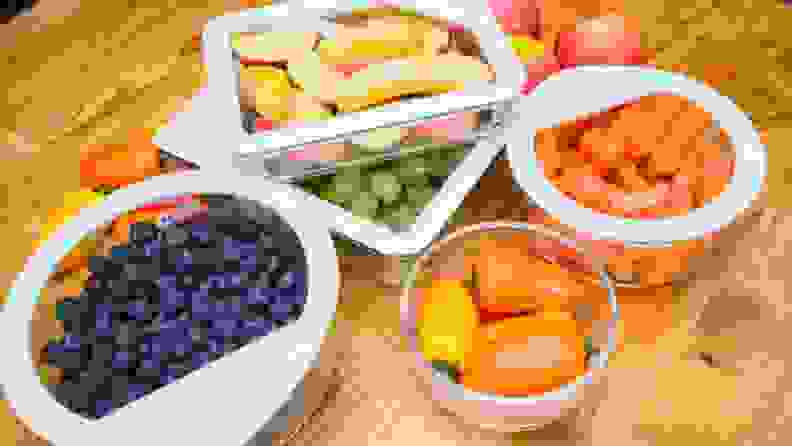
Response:
[[[42,221],[49,210],[59,206],[63,191],[77,189],[79,151],[97,142],[123,142],[131,129],[155,128],[180,109],[183,100],[194,94],[203,81],[200,55],[192,47],[192,35],[200,30],[207,18],[248,3],[242,0],[130,0],[115,2],[110,7],[108,2],[98,0],[42,0],[41,6],[31,15],[0,27],[0,62],[3,64],[0,85],[6,92],[6,100],[0,101],[0,162],[5,167],[0,188],[0,233],[3,234],[0,241],[4,250],[0,260],[0,296],[5,296],[14,276],[31,253],[32,242],[37,238],[37,222]],[[725,78],[723,92],[752,113],[758,125],[770,129],[769,146],[776,149],[770,155],[769,184],[772,187],[767,202],[776,208],[789,206],[788,179],[792,176],[787,171],[792,164],[786,147],[792,144],[792,116],[787,116],[792,110],[792,90],[789,88],[792,77],[788,74],[792,72],[788,69],[792,59],[789,57],[789,40],[783,36],[792,25],[792,15],[788,9],[777,6],[780,2],[699,0],[693,5],[682,0],[633,1],[622,6],[619,1],[563,0],[548,4],[550,7],[546,8],[545,14],[552,23],[553,32],[573,24],[579,17],[624,8],[628,14],[640,19],[646,41],[657,51],[661,67],[684,63],[689,65],[694,77],[705,77],[708,66],[733,63],[737,67],[737,75]],[[490,177],[486,180],[489,186],[470,195],[463,212],[479,219],[524,218],[529,209],[522,194],[513,188],[504,172]],[[499,192],[493,195],[494,191]],[[493,196],[499,199],[494,200]],[[792,413],[789,408],[784,408],[781,401],[784,393],[780,389],[784,388],[784,383],[777,375],[783,374],[778,368],[769,367],[787,357],[785,349],[779,348],[777,343],[770,347],[785,333],[785,325],[778,322],[783,321],[787,314],[783,300],[785,293],[778,285],[783,282],[783,274],[773,269],[773,286],[762,287],[762,283],[767,281],[762,280],[760,273],[770,271],[770,268],[767,265],[763,267],[759,260],[756,263],[752,260],[770,259],[774,237],[789,229],[786,222],[766,220],[765,226],[754,226],[763,229],[735,233],[733,243],[724,245],[742,246],[747,250],[754,240],[762,239],[764,242],[756,242],[761,245],[757,248],[760,250],[756,254],[758,257],[740,256],[724,249],[722,256],[718,257],[720,262],[711,262],[712,265],[720,265],[718,268],[712,266],[715,269],[709,276],[716,281],[721,277],[737,280],[743,277],[742,274],[758,275],[759,280],[752,279],[755,285],[751,289],[744,289],[740,295],[727,293],[715,296],[711,288],[713,279],[707,282],[702,278],[700,285],[694,285],[690,292],[695,299],[684,301],[700,301],[700,304],[683,306],[684,316],[679,318],[700,315],[699,326],[680,322],[661,336],[657,346],[649,349],[636,346],[626,350],[614,362],[607,398],[598,401],[602,407],[597,416],[584,418],[590,421],[589,425],[553,426],[539,433],[518,435],[516,441],[530,445],[597,446],[736,445],[749,444],[745,442],[748,440],[762,445],[772,441],[789,444],[789,438],[783,437],[784,433],[780,431],[775,440],[767,437],[768,432],[778,430],[774,427],[777,416],[784,412]],[[738,245],[739,241],[742,245]],[[345,444],[370,444],[373,440],[404,444],[430,439],[420,435],[423,431],[436,433],[431,438],[433,442],[449,442],[451,439],[454,444],[466,441],[471,444],[508,444],[512,439],[470,431],[454,420],[443,418],[445,415],[437,414],[425,399],[409,396],[410,381],[401,376],[403,373],[399,373],[399,366],[388,367],[391,360],[393,364],[400,364],[402,356],[396,353],[398,348],[389,341],[395,334],[394,324],[398,323],[397,295],[394,287],[383,285],[382,278],[394,276],[397,262],[386,258],[377,262],[370,259],[345,262],[342,274],[346,285],[339,311],[342,320],[351,322],[340,324],[342,333],[344,326],[350,328],[338,339],[352,346],[347,353],[351,391],[338,404],[349,410],[336,411],[332,415],[335,418],[324,421],[330,422],[331,426],[352,426],[359,421],[374,426],[390,423],[391,427],[379,437],[374,434],[366,436],[363,432],[349,432],[348,436],[340,437],[333,436],[330,426],[318,426],[311,431],[317,442],[321,436],[325,440],[335,439]],[[775,259],[773,262],[782,261]],[[710,284],[709,288],[705,283]],[[642,302],[651,300],[651,297],[639,296],[635,300]],[[717,343],[712,344],[709,341],[712,336],[707,333],[719,332],[735,319],[734,314],[729,315],[728,311],[724,314],[723,305],[710,303],[718,299],[772,302],[763,305],[760,313],[775,321],[774,324],[743,324],[732,331],[732,337],[745,336],[743,339],[751,340],[743,340],[732,350],[741,348],[745,356],[746,352],[754,350],[754,345],[767,345],[768,348],[763,350],[769,359],[748,358],[745,362],[746,359],[739,354],[729,356],[724,353],[718,359],[723,364],[731,361],[744,366],[739,373],[729,375],[720,370],[713,372],[711,368],[702,368],[701,360],[695,356],[697,349],[711,352],[723,348]],[[745,308],[746,312],[748,307],[750,305]],[[654,309],[650,305],[635,308],[635,311],[669,312],[679,309],[670,298],[664,305],[654,305]],[[747,337],[746,334],[755,336]],[[369,372],[367,364],[377,372]],[[763,368],[762,364],[768,367]],[[359,373],[364,369],[366,373]],[[679,384],[686,379],[698,387],[691,390],[691,387]],[[762,382],[763,387],[755,387],[757,381]],[[388,387],[382,386],[382,382],[393,382],[394,387],[370,398],[369,402],[379,401],[379,406],[375,404],[372,408],[358,404],[365,399],[356,392]],[[735,390],[738,388],[749,391],[738,392]],[[766,407],[763,407],[761,395],[750,389],[777,396],[768,399]],[[403,406],[393,407],[394,402],[401,401],[402,394],[406,395]],[[638,404],[639,400],[645,404]],[[688,406],[692,409],[684,412],[685,416],[699,417],[700,422],[680,419],[671,413]],[[722,408],[730,411],[728,416],[719,418],[707,414],[707,411],[717,412]],[[746,414],[755,415],[762,422],[757,423],[754,429],[742,428],[722,443],[709,443],[713,437],[700,433],[707,429],[728,431],[732,425],[744,421]],[[12,411],[8,407],[0,407],[0,444],[41,444],[40,439],[10,415]],[[397,421],[401,423],[398,424],[401,426],[399,429],[393,427]],[[645,435],[636,435],[636,431]],[[576,437],[584,434],[585,437]]]

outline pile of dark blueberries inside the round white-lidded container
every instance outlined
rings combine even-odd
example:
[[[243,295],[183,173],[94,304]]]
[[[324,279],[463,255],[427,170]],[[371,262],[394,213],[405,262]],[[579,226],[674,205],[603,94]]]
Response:
[[[44,348],[63,372],[56,400],[100,418],[296,320],[304,252],[265,214],[225,206],[187,223],[136,223],[127,245],[91,259],[80,296],[56,309],[65,336]]]

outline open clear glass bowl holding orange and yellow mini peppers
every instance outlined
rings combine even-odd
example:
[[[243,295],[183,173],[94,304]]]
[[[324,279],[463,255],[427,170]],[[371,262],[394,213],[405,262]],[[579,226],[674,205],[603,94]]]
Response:
[[[467,226],[418,257],[402,330],[431,398],[467,423],[534,430],[578,407],[619,345],[604,266],[544,226]]]

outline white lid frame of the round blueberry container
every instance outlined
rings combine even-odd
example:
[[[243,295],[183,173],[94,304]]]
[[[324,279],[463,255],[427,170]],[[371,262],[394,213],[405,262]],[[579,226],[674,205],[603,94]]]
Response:
[[[169,197],[230,194],[272,209],[305,250],[302,316],[242,349],[98,420],[61,406],[40,383],[30,352],[34,307],[57,262],[119,215]],[[326,227],[300,191],[261,179],[181,172],[119,190],[59,227],[29,258],[0,314],[0,384],[17,416],[58,446],[243,444],[286,401],[317,357],[338,300],[338,260]]]

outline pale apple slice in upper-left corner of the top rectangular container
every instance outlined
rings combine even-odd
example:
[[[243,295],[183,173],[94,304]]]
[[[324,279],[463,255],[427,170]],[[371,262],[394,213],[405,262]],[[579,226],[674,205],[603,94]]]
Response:
[[[266,65],[288,62],[312,51],[319,34],[315,32],[270,31],[235,33],[231,47],[239,54],[242,65]]]

